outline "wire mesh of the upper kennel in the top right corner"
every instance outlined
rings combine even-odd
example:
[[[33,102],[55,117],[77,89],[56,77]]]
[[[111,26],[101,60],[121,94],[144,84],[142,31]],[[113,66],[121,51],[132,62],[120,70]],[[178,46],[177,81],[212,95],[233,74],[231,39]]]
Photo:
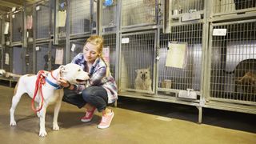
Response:
[[[214,0],[214,13],[225,14],[238,10],[256,10],[255,0]]]

